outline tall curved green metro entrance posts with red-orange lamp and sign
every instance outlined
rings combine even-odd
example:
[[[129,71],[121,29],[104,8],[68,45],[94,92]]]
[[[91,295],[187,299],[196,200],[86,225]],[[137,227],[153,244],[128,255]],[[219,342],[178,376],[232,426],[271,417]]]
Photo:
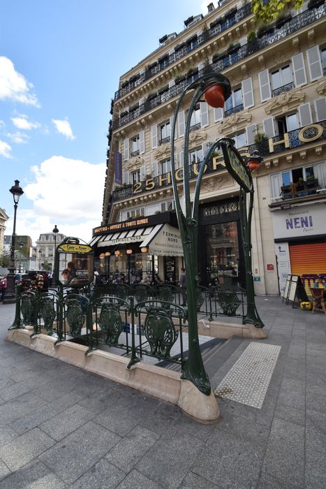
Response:
[[[175,150],[173,141],[175,140],[175,126],[177,124],[177,117],[181,103],[184,102],[184,98],[188,92],[194,90],[193,98],[191,100],[190,108],[188,110],[188,117],[186,120],[186,128],[184,133],[184,161],[181,162],[184,170],[184,210],[180,203],[179,192],[177,189],[177,179],[175,177]],[[202,77],[195,80],[191,85],[188,85],[184,92],[179,97],[177,107],[175,109],[175,116],[172,122],[171,129],[171,177],[173,194],[175,197],[175,207],[177,211],[177,219],[179,224],[179,230],[181,233],[181,242],[184,251],[184,263],[186,267],[186,289],[188,300],[188,360],[186,360],[184,373],[182,378],[188,379],[204,394],[209,395],[211,393],[211,386],[209,378],[205,372],[205,367],[202,362],[202,355],[200,352],[199,340],[198,340],[198,319],[197,319],[197,286],[198,286],[198,211],[199,211],[199,198],[200,198],[200,186],[202,183],[202,177],[205,173],[207,161],[212,158],[212,154],[216,148],[221,148],[225,159],[225,166],[237,181],[240,186],[240,219],[241,219],[241,231],[242,242],[244,243],[244,256],[245,256],[245,268],[246,268],[246,291],[247,291],[247,314],[244,318],[244,323],[252,323],[258,328],[262,328],[263,323],[258,316],[257,309],[255,307],[255,297],[253,292],[253,275],[251,268],[251,217],[253,210],[253,180],[251,172],[249,170],[249,161],[253,159],[261,159],[257,156],[248,158],[248,161],[244,161],[240,156],[237,149],[234,147],[234,141],[230,138],[221,138],[216,140],[208,149],[200,164],[200,170],[198,173],[197,182],[195,184],[195,191],[193,195],[193,202],[191,202],[190,195],[190,175],[188,171],[188,147],[189,147],[189,133],[191,129],[191,116],[195,110],[195,106],[202,100],[204,96],[205,101],[214,108],[223,108],[225,100],[231,94],[230,81],[221,73],[209,72]],[[248,164],[247,164],[248,163]],[[249,212],[246,207],[246,194],[249,193]]]

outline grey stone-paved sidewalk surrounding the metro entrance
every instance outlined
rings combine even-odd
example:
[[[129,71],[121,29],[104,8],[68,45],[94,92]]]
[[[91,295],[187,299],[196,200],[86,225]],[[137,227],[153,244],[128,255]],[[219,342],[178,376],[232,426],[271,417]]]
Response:
[[[326,316],[256,299],[279,358],[262,409],[218,398],[216,425],[4,342],[0,304],[0,489],[325,488]],[[250,343],[220,350],[213,389]]]

